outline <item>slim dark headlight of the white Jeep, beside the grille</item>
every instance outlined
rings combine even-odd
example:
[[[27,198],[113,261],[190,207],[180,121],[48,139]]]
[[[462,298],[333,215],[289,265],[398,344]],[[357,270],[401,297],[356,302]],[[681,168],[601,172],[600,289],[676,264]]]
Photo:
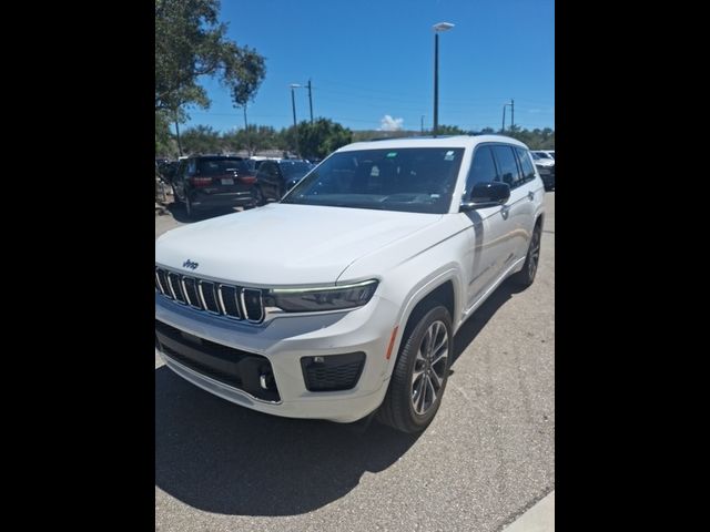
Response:
[[[345,286],[272,288],[263,295],[267,311],[318,313],[367,305],[377,289],[376,279]]]

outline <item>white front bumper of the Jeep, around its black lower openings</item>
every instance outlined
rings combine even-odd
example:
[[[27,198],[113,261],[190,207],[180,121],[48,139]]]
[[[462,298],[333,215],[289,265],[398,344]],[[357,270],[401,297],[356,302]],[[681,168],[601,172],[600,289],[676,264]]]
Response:
[[[398,308],[374,296],[362,308],[346,313],[277,317],[251,325],[215,317],[155,295],[155,319],[189,335],[260,355],[268,359],[278,390],[278,401],[262,400],[215,380],[156,350],[175,374],[215,396],[264,413],[290,418],[352,422],[374,411],[383,401],[390,375],[385,358]],[[354,388],[342,391],[308,391],[301,359],[312,356],[364,352],[365,364]]]

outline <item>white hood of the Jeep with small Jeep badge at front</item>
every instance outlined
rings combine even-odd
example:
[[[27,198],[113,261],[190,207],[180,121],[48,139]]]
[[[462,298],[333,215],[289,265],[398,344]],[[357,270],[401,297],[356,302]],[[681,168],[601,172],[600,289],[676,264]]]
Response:
[[[329,284],[357,258],[440,218],[439,214],[271,204],[170,231],[155,242],[155,262],[235,284]],[[199,266],[184,268],[187,259]]]

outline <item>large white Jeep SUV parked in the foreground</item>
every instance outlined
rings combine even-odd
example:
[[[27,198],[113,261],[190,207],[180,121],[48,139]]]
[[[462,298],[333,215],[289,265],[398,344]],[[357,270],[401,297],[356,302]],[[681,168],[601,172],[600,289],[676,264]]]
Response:
[[[453,338],[537,270],[544,187],[505,136],[344,146],[280,203],[155,243],[155,348],[237,405],[423,430]]]

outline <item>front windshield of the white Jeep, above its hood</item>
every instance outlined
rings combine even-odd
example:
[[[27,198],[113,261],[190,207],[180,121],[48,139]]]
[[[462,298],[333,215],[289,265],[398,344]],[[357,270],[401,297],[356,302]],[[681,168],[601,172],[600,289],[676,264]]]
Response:
[[[463,156],[463,147],[337,152],[282,203],[444,214]]]

